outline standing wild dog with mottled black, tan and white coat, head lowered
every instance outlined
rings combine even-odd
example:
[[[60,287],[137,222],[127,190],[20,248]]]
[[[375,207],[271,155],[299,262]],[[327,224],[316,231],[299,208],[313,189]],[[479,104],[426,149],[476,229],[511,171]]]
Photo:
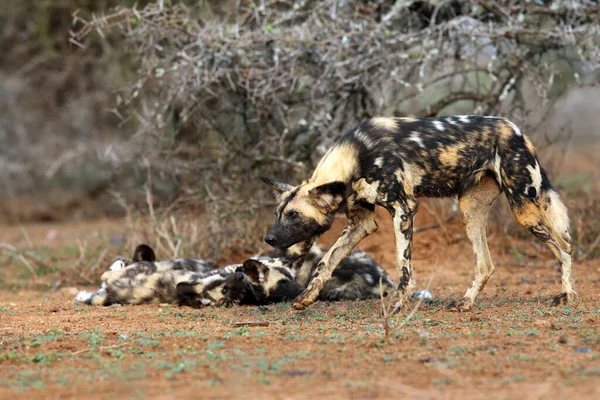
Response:
[[[411,264],[417,197],[458,196],[476,258],[475,278],[450,309],[470,310],[494,271],[486,225],[492,203],[505,192],[517,221],[546,243],[562,269],[562,293],[555,304],[572,302],[571,245],[567,209],[540,166],[531,141],[499,117],[372,118],[347,132],[299,186],[263,181],[278,196],[276,221],[265,241],[287,248],[327,231],[337,211],[348,225],[319,262],[313,279],[293,307],[315,301],[340,261],[377,230],[375,205],[394,221],[399,300],[414,288]]]

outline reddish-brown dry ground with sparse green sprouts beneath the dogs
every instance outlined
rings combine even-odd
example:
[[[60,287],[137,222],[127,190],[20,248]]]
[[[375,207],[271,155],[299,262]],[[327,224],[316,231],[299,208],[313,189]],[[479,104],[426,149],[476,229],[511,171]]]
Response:
[[[417,225],[428,222],[419,218]],[[392,228],[383,213],[379,222],[361,247],[393,274]],[[64,248],[76,238],[106,241],[121,226],[25,231],[34,245]],[[48,235],[52,229],[58,234]],[[451,313],[444,305],[463,294],[473,270],[461,232],[455,220],[415,235],[418,287],[433,274],[434,301],[389,343],[377,300],[316,303],[304,312],[289,304],[94,308],[73,304],[68,289],[2,290],[0,398],[600,398],[598,263],[576,262],[580,301],[553,308],[560,275],[550,251],[492,232],[495,275],[473,312]],[[8,229],[0,239],[22,235]],[[269,325],[233,325],[248,320]]]

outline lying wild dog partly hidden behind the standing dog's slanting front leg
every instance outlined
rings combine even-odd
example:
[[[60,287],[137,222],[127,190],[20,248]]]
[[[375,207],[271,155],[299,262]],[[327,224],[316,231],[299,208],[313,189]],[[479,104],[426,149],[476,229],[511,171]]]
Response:
[[[203,280],[182,282],[177,290],[191,304],[263,305],[292,300],[304,290],[323,252],[313,241],[292,246],[269,257],[251,258],[236,272],[208,285]],[[232,266],[236,267],[236,266]],[[381,282],[381,285],[380,285]],[[364,300],[384,296],[393,288],[387,272],[363,251],[344,258],[321,289],[321,300]],[[381,290],[383,289],[383,293]]]

